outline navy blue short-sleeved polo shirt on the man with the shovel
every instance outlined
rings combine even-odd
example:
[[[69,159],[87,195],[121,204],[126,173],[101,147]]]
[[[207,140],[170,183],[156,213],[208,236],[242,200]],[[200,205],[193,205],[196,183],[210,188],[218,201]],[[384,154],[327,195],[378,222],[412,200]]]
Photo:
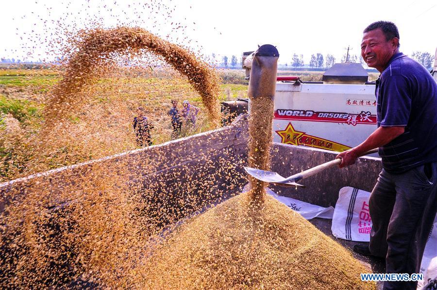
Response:
[[[379,148],[384,169],[402,173],[437,161],[437,83],[418,62],[396,53],[376,83],[377,125],[405,126]]]

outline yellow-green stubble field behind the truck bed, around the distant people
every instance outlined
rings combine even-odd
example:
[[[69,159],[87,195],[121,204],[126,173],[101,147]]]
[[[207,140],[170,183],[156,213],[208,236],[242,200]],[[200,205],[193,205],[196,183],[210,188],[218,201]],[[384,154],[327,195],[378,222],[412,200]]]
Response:
[[[67,124],[62,124],[71,136],[58,136],[68,137],[69,144],[58,148],[37,168],[28,166],[33,158],[32,142],[44,122],[43,110],[50,91],[61,76],[54,69],[0,70],[0,182],[139,148],[132,122],[140,106],[154,125],[154,145],[211,129],[201,97],[186,78],[165,69],[120,70],[114,72],[114,77],[100,79],[87,88],[94,97],[71,113]],[[223,80],[220,101],[247,97],[243,72],[219,74]],[[172,134],[167,114],[172,99],[178,100],[179,109],[184,100],[201,108],[196,127],[184,124],[178,136]],[[71,144],[71,139],[78,143]]]

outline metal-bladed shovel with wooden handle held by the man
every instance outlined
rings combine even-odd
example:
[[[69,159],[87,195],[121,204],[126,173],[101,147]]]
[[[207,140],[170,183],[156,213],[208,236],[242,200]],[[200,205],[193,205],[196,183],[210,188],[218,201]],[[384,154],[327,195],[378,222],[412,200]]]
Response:
[[[372,153],[376,153],[376,152],[378,152],[378,148],[375,148],[375,149],[372,149],[368,152],[365,152],[364,154],[360,155],[359,157],[369,155]],[[306,177],[313,176],[322,170],[331,168],[331,167],[336,166],[340,163],[341,163],[341,158],[337,158],[333,161],[328,161],[326,163],[317,165],[313,168],[307,169],[301,173],[297,173],[297,174],[294,174],[294,175],[292,175],[290,177],[286,177],[286,178],[280,176],[277,172],[265,171],[265,170],[261,170],[261,169],[251,168],[251,167],[244,167],[244,169],[246,170],[247,173],[249,173],[250,175],[252,175],[256,179],[264,181],[264,182],[273,183],[273,184],[280,185],[280,186],[287,186],[287,187],[290,187],[290,186],[303,187],[304,185],[296,183],[296,181],[299,181],[299,180],[306,178]]]

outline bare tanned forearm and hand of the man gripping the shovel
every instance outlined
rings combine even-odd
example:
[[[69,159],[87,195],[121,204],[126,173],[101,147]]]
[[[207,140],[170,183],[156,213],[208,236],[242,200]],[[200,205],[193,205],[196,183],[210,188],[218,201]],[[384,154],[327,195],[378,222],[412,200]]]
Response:
[[[338,167],[342,168],[352,165],[361,154],[373,148],[386,145],[391,140],[403,134],[404,131],[405,127],[403,126],[379,127],[373,133],[371,133],[370,136],[360,145],[338,154],[336,158],[342,159],[341,164],[338,165]]]

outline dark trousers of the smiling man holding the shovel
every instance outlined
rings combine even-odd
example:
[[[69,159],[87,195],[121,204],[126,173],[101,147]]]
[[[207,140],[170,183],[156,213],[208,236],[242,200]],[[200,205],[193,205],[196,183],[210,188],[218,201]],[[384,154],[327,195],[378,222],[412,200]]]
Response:
[[[402,174],[382,170],[369,200],[370,252],[386,258],[386,273],[419,273],[437,210],[437,162]],[[416,289],[417,282],[385,282],[384,289]]]

